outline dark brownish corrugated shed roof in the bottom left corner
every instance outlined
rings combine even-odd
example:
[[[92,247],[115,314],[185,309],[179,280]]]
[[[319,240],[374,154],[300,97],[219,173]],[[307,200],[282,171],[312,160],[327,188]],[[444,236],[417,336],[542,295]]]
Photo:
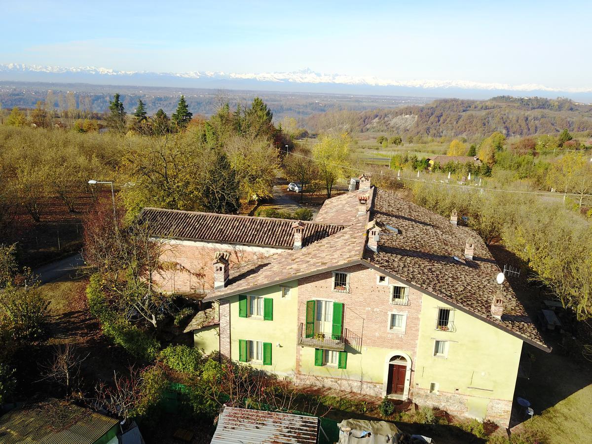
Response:
[[[117,420],[51,399],[15,408],[0,417],[3,444],[92,444]]]

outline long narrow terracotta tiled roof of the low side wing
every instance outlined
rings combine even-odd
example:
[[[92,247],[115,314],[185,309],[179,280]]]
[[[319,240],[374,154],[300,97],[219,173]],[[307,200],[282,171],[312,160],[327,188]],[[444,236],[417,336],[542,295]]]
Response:
[[[294,220],[149,207],[141,217],[151,224],[155,236],[286,249],[294,246]],[[343,229],[339,224],[303,223],[303,246]]]

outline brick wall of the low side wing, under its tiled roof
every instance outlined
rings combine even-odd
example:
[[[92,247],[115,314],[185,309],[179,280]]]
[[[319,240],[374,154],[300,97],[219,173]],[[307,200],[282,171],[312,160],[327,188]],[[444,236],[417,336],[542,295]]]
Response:
[[[216,252],[230,253],[230,269],[240,262],[269,256],[281,249],[244,245],[175,242],[164,249],[160,260],[165,270],[156,272],[153,280],[165,291],[209,291],[214,287],[214,256]]]

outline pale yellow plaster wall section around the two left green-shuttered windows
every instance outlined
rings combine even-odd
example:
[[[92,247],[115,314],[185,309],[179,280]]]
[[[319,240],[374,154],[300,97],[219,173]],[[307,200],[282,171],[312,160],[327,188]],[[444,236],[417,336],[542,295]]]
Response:
[[[239,297],[229,298],[231,358],[233,361],[239,361],[239,339],[271,342],[272,365],[252,364],[253,367],[287,377],[294,376],[298,337],[297,285],[298,281],[286,282],[281,285],[281,287],[291,288],[289,299],[281,297],[279,285],[244,293],[245,295],[273,298],[274,320],[272,321],[239,317]]]

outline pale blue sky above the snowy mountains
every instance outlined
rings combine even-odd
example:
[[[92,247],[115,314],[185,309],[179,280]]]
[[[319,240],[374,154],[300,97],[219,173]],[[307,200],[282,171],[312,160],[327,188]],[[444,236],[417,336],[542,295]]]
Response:
[[[591,18],[590,1],[11,1],[0,63],[592,88]]]

